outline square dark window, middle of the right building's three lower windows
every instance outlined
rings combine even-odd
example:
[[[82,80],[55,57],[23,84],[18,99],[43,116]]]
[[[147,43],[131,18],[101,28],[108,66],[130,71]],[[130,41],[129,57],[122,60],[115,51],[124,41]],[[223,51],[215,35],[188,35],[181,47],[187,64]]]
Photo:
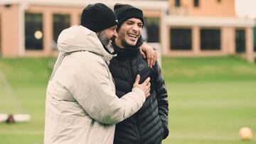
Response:
[[[220,50],[220,29],[201,29],[201,50]]]

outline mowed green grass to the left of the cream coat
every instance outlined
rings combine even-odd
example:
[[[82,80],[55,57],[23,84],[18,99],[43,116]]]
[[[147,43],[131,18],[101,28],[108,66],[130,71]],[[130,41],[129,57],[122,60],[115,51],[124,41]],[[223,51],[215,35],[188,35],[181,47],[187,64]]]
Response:
[[[0,113],[28,113],[26,123],[0,123],[1,144],[41,144],[48,83],[48,58],[0,59],[0,70],[14,92],[0,79]]]

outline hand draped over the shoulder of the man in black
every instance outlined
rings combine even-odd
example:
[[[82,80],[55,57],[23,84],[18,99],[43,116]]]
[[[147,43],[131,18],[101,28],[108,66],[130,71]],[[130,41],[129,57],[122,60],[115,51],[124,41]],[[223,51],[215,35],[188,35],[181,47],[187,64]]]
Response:
[[[152,66],[156,64],[157,53],[153,48],[151,48],[151,46],[147,45],[144,42],[142,46],[139,48],[139,52],[142,55],[142,57],[146,58],[149,67],[152,68]]]

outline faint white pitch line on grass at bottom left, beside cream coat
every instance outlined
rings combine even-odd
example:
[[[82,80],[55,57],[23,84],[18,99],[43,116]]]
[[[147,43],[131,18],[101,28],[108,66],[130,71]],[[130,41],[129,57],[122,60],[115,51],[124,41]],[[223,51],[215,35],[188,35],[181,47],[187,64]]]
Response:
[[[0,135],[43,135],[43,131],[0,130]]]

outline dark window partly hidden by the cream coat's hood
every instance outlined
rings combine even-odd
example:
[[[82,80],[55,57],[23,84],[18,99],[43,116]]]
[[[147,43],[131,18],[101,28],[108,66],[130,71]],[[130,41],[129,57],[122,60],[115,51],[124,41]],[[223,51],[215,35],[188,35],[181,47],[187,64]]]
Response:
[[[53,14],[53,40],[57,43],[58,35],[65,28],[70,27],[70,15],[68,14]]]

